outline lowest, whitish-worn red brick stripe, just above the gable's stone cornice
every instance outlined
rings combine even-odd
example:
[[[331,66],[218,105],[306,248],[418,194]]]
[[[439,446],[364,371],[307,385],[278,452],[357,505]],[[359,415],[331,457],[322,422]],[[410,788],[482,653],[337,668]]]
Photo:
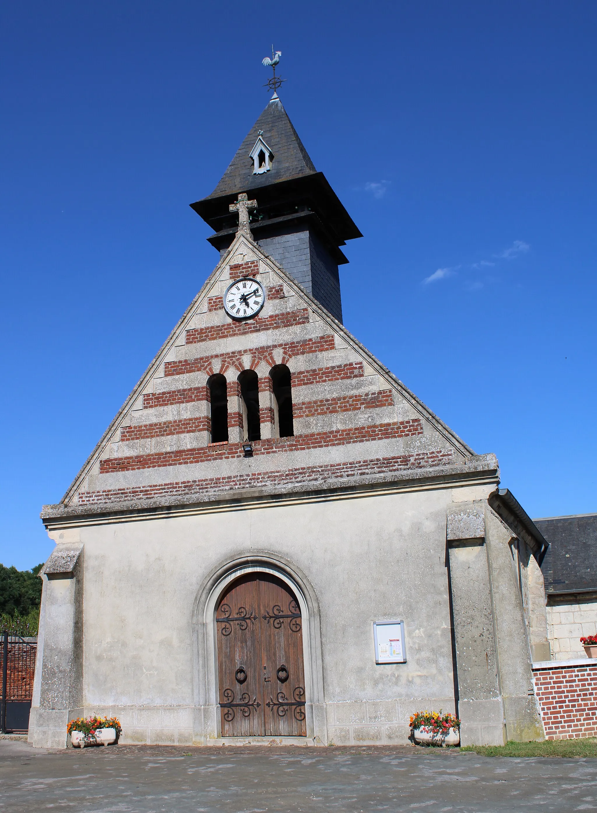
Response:
[[[253,449],[259,442],[253,443]],[[218,448],[226,450],[231,444],[222,444]],[[242,447],[234,444],[236,457],[242,457]],[[224,457],[231,455],[217,455]],[[204,480],[180,480],[174,483],[139,486],[136,488],[102,489],[83,491],[79,494],[80,505],[94,505],[104,502],[129,502],[132,500],[161,498],[165,496],[184,497],[210,491],[234,491],[240,489],[264,488],[268,485],[300,485],[309,483],[350,480],[353,477],[387,472],[401,472],[404,469],[422,469],[437,466],[448,466],[452,463],[452,454],[441,450],[417,452],[417,454],[398,454],[389,458],[357,460],[352,463],[331,463],[322,466],[305,466],[275,472],[249,472],[247,474],[227,477],[209,477]]]

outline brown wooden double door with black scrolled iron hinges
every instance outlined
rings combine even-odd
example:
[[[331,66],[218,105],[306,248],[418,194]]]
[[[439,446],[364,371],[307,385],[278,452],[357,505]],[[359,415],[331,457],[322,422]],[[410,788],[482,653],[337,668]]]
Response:
[[[306,737],[301,607],[267,573],[232,582],[218,602],[223,737]]]

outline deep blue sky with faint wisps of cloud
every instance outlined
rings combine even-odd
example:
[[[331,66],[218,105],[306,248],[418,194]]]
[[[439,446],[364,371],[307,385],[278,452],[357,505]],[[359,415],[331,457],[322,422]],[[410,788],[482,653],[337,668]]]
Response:
[[[364,237],[344,322],[531,516],[597,511],[595,2],[201,0],[2,11],[0,562],[218,257],[188,207],[268,95]],[[389,293],[388,293],[389,292]]]

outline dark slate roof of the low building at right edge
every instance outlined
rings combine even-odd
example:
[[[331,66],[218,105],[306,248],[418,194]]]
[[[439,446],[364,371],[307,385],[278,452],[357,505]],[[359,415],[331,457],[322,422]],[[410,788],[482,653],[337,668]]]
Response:
[[[546,592],[597,590],[597,514],[533,521],[549,542],[541,564]]]

